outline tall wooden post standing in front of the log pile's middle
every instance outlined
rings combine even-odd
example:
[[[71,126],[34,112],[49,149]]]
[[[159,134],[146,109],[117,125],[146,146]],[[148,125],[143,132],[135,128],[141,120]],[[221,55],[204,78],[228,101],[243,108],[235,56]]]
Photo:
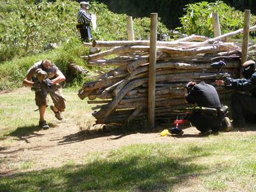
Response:
[[[157,62],[157,13],[151,13],[149,43],[149,129],[155,127],[155,65]]]

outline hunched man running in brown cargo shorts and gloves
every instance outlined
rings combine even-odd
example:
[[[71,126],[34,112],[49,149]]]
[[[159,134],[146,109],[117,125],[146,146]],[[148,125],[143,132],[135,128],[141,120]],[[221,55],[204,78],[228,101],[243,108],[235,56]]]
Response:
[[[54,103],[54,106],[51,105],[51,110],[55,113],[55,117],[59,120],[63,119],[65,98],[61,93],[61,85],[59,85],[63,81],[65,81],[63,73],[48,59],[35,63],[23,80],[23,85],[31,87],[31,90],[35,91],[35,104],[39,107],[40,115],[39,127],[42,129],[49,129],[49,125],[45,121],[48,94]]]

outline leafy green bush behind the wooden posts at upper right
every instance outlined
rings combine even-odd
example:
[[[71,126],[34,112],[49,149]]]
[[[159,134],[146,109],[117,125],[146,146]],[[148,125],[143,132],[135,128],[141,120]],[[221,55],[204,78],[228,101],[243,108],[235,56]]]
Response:
[[[207,37],[213,37],[213,27],[211,13],[219,14],[219,22],[221,24],[221,33],[228,33],[243,28],[244,14],[241,11],[235,11],[233,7],[229,7],[223,1],[208,3],[188,4],[185,8],[185,15],[180,18],[182,27],[178,27],[182,33],[199,34]],[[251,25],[255,25],[256,17],[251,17]]]

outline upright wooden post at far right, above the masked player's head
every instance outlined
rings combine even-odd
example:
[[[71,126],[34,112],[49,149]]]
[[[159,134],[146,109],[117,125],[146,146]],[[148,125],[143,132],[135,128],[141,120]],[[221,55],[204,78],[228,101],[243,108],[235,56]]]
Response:
[[[247,61],[250,16],[251,16],[251,10],[245,9],[245,18],[244,18],[245,20],[243,21],[243,44],[242,44],[241,65],[243,65],[243,63]]]

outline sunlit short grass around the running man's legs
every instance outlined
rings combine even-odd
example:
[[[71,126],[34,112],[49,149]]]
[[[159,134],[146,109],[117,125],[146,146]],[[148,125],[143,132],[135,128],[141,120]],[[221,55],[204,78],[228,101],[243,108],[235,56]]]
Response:
[[[77,96],[79,87],[71,87],[63,89],[63,94],[67,100],[67,108],[64,122],[72,122],[74,126],[86,125],[88,121],[93,121],[91,117],[91,107],[87,105],[87,100],[81,100]],[[0,95],[0,139],[7,136],[21,138],[25,135],[33,134],[39,131],[39,111],[35,111],[38,107],[35,105],[34,92],[27,89],[19,89],[11,93]],[[52,104],[49,98],[49,104]],[[88,117],[90,116],[90,117]],[[55,117],[47,107],[45,119],[51,125],[55,121]]]

